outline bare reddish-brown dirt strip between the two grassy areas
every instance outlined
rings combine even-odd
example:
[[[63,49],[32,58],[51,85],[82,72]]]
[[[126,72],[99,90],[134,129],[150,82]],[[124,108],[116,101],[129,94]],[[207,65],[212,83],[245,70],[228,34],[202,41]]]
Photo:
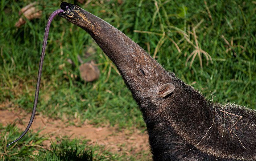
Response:
[[[30,116],[31,114],[25,111],[17,111],[17,108],[14,111],[10,102],[0,105],[0,120],[4,126],[16,121],[16,126],[24,130]],[[115,127],[94,127],[86,122],[79,127],[67,126],[63,120],[54,120],[40,114],[35,116],[31,129],[34,132],[41,130],[39,135],[49,138],[43,143],[45,147],[50,147],[50,140],[55,140],[56,137],[68,136],[70,139],[89,139],[89,144],[103,145],[105,150],[112,153],[124,152],[128,155],[136,155],[144,151],[143,153],[148,154],[148,159],[151,158],[148,135],[142,134],[137,129],[118,131]]]

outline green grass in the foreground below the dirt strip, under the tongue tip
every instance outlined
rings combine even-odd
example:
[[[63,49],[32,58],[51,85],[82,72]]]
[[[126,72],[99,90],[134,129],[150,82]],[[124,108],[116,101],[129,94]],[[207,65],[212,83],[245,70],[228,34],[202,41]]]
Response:
[[[14,124],[3,127],[0,124],[0,160],[136,160],[134,156],[113,154],[99,145],[88,145],[88,140],[58,139],[51,147],[43,145],[48,138],[29,132],[20,142],[10,147],[7,143],[21,133]]]

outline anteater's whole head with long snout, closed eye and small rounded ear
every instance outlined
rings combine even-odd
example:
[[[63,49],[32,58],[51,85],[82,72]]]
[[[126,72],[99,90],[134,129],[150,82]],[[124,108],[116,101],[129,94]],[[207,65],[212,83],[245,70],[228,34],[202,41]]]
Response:
[[[142,110],[144,114],[151,111],[149,106],[168,106],[177,89],[173,73],[164,70],[137,43],[101,18],[67,2],[60,7],[64,12],[59,15],[86,30],[114,62],[134,99],[146,110]]]

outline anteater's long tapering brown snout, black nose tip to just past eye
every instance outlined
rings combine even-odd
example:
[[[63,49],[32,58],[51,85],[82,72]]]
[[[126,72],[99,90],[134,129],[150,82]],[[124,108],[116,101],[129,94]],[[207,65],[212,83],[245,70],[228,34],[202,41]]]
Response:
[[[59,15],[92,36],[117,66],[130,89],[136,87],[136,90],[145,90],[145,87],[158,83],[163,74],[166,75],[166,71],[155,59],[108,22],[77,5],[62,2],[60,7],[65,12]]]

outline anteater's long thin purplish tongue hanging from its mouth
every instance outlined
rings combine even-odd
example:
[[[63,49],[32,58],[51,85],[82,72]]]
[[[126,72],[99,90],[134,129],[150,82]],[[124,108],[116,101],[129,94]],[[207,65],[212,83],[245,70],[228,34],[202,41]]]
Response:
[[[44,31],[44,37],[43,37],[43,47],[42,47],[42,53],[41,53],[41,58],[40,58],[40,63],[39,63],[39,70],[38,70],[38,75],[37,75],[37,82],[36,82],[36,89],[35,89],[35,99],[34,99],[34,106],[33,106],[33,110],[32,110],[32,114],[31,114],[31,118],[29,120],[29,123],[25,129],[25,131],[19,136],[18,139],[14,140],[13,142],[9,143],[6,147],[9,147],[11,144],[19,141],[29,130],[29,128],[32,125],[32,122],[35,118],[35,111],[36,111],[36,106],[37,106],[37,100],[38,100],[38,95],[39,95],[39,88],[40,88],[40,81],[41,81],[41,75],[42,75],[42,68],[43,68],[43,58],[44,58],[44,54],[45,54],[45,47],[47,44],[47,38],[48,38],[48,34],[49,34],[49,28],[52,22],[52,19],[59,13],[64,12],[64,10],[62,9],[58,9],[56,11],[54,11],[51,16],[48,18],[46,27],[45,27],[45,31]]]

